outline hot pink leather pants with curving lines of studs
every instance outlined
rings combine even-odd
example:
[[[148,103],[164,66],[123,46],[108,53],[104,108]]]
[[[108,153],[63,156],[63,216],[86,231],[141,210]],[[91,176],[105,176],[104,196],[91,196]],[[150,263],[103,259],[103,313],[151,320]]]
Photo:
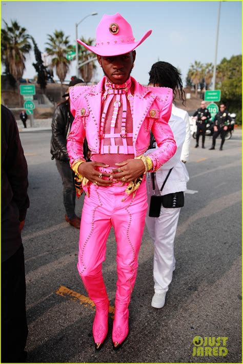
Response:
[[[113,226],[117,242],[117,290],[115,302],[128,307],[137,273],[138,252],[147,210],[145,180],[134,198],[124,202],[125,186],[100,187],[90,184],[85,196],[80,225],[78,272],[95,305],[107,301],[102,263],[106,241]]]

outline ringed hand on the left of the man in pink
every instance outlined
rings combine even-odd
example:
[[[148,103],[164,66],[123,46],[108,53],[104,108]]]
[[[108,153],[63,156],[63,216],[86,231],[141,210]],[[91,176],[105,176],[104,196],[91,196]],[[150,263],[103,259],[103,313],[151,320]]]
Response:
[[[109,165],[104,165],[104,163],[98,162],[84,162],[81,163],[78,167],[78,173],[82,174],[83,177],[86,177],[89,181],[95,183],[98,186],[111,186],[112,181],[103,179],[102,177],[110,177],[110,174],[102,173],[97,171],[97,167],[109,167]]]

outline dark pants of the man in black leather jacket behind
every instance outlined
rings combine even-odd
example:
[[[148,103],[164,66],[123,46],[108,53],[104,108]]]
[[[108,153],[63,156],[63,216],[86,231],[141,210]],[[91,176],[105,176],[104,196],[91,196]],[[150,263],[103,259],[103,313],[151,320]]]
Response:
[[[73,171],[69,162],[56,159],[56,167],[63,182],[63,203],[70,220],[76,217],[75,215],[75,198],[76,191],[74,185]]]

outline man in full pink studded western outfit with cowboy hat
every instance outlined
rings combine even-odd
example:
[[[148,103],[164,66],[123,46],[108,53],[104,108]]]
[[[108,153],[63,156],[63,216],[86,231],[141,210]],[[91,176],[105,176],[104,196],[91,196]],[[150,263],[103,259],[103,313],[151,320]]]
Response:
[[[78,43],[97,54],[105,77],[94,86],[70,91],[75,119],[68,136],[70,165],[78,193],[86,192],[80,225],[78,271],[96,306],[93,322],[95,349],[108,333],[109,300],[102,276],[106,241],[113,226],[117,242],[117,290],[112,330],[117,350],[129,333],[128,306],[135,284],[138,252],[147,210],[146,172],[159,169],[176,151],[168,125],[172,90],[144,87],[130,77],[137,42],[130,24],[119,14],[104,15],[96,28],[96,45]],[[152,130],[158,149],[144,156]],[[87,138],[91,162],[83,155]]]

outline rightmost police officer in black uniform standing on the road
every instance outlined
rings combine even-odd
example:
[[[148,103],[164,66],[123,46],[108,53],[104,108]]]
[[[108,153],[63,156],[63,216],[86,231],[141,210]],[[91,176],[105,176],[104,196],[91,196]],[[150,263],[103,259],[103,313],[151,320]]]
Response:
[[[225,142],[225,136],[231,122],[230,113],[226,110],[226,105],[222,103],[219,106],[219,112],[216,114],[213,123],[213,144],[209,150],[215,149],[215,143],[218,135],[221,137],[221,144],[219,150],[222,150],[222,146]]]

